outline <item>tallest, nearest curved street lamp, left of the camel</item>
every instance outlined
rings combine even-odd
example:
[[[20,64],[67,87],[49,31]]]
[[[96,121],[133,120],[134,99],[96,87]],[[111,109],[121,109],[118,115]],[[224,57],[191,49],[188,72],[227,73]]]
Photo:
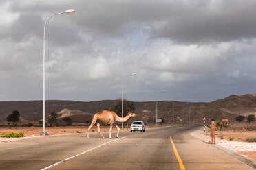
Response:
[[[50,16],[46,21],[45,21],[45,26],[43,27],[43,132],[41,133],[41,136],[45,136],[47,134],[45,134],[45,27],[47,22],[56,15],[59,14],[74,14],[75,10],[74,9],[70,9],[70,10],[66,10],[65,12],[59,12],[56,14],[53,14],[52,16]]]

